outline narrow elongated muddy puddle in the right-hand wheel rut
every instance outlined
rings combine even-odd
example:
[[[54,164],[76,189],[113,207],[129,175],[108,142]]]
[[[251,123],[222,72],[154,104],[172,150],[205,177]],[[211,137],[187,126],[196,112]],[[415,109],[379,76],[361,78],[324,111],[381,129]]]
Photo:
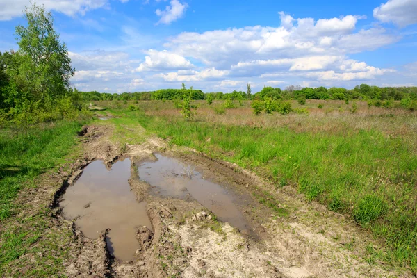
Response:
[[[158,161],[140,165],[139,177],[153,186],[153,192],[165,197],[185,198],[190,194],[202,206],[212,211],[219,220],[229,222],[240,230],[250,229],[240,213],[236,202],[238,197],[217,183],[202,177],[191,165],[177,159],[155,154]]]

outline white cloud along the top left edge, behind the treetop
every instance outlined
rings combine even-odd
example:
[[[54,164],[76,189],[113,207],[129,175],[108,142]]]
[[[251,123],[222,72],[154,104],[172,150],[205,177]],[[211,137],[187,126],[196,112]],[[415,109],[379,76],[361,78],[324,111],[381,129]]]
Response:
[[[129,0],[120,0],[123,3]],[[76,13],[84,15],[88,10],[108,7],[108,0],[37,0],[36,4],[44,5],[47,10],[55,10],[65,15],[73,16]],[[0,1],[0,20],[10,20],[22,16],[22,10],[28,6],[27,0]]]

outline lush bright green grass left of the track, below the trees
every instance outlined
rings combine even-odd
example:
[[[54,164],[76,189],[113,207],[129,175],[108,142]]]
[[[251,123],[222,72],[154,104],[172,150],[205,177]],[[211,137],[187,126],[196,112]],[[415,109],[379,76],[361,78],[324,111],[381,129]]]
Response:
[[[1,129],[0,220],[13,215],[19,189],[36,186],[36,177],[65,162],[80,128],[80,122],[62,121],[19,131]]]

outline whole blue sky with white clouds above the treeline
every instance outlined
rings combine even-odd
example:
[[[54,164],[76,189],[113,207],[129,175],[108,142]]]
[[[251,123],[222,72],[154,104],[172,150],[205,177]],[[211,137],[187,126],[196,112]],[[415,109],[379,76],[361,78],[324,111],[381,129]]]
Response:
[[[417,0],[37,0],[79,90],[417,85]],[[0,0],[0,51],[26,0]]]

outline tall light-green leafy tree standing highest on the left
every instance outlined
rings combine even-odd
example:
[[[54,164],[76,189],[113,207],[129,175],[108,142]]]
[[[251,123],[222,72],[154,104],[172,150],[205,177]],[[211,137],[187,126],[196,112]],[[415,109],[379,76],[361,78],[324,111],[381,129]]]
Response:
[[[62,97],[74,76],[65,43],[54,30],[54,19],[44,6],[26,7],[27,26],[16,27],[17,68],[11,74],[17,88],[31,92],[34,101],[51,101]]]

